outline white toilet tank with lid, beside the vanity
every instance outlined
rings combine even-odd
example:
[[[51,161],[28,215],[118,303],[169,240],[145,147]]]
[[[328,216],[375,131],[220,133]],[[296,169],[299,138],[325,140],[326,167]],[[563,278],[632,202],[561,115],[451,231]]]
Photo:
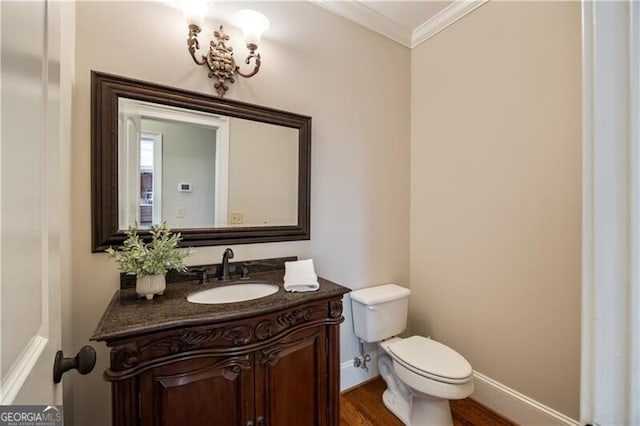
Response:
[[[380,342],[407,328],[411,291],[396,284],[354,290],[350,293],[353,329],[365,342]]]

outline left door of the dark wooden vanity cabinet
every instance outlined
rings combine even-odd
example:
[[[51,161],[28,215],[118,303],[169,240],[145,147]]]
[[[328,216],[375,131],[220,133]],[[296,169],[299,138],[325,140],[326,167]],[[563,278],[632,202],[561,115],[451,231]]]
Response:
[[[141,374],[143,426],[238,426],[253,419],[253,356],[193,358]]]

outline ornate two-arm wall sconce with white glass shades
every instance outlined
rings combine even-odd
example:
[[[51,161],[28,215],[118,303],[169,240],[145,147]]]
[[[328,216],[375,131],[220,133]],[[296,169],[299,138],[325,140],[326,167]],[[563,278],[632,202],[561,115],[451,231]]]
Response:
[[[249,55],[244,62],[247,65],[250,65],[251,61],[254,62],[253,70],[244,73],[240,71],[240,66],[236,64],[233,57],[233,47],[226,45],[229,36],[224,32],[222,25],[213,32],[214,39],[209,42],[209,51],[206,55],[197,57],[196,53],[200,49],[198,34],[201,31],[205,11],[206,4],[202,0],[183,1],[183,12],[189,22],[187,47],[193,61],[197,65],[206,65],[209,68],[209,78],[217,79],[213,87],[218,92],[218,96],[223,97],[229,90],[227,82],[235,83],[236,74],[250,78],[260,70],[260,54],[256,53],[256,49],[262,33],[269,28],[269,20],[254,10],[241,10],[236,14],[236,20],[244,32],[244,40],[249,50]]]

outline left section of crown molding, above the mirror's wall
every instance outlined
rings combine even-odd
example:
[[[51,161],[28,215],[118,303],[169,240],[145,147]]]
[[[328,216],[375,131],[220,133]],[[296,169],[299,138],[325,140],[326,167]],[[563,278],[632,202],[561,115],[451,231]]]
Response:
[[[338,16],[349,19],[372,31],[411,48],[411,32],[395,21],[376,12],[358,1],[310,0]]]

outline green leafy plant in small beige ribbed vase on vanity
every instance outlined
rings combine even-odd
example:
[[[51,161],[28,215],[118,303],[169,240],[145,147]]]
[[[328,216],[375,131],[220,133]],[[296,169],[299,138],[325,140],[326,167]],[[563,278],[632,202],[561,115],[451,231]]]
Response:
[[[138,235],[136,226],[125,232],[127,239],[121,249],[109,247],[106,252],[118,263],[121,272],[135,275],[136,292],[153,299],[166,288],[165,275],[171,270],[184,272],[184,259],[194,251],[191,248],[178,249],[182,239],[179,232],[172,233],[166,222],[151,227],[151,241],[145,243]]]

